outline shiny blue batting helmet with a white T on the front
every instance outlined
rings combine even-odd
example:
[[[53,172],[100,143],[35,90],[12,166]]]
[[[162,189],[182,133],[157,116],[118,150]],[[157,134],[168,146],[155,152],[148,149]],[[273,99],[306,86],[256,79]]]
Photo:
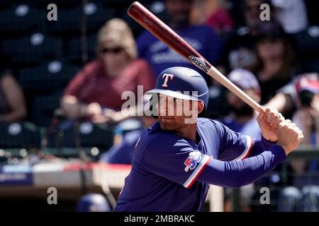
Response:
[[[157,77],[154,90],[147,94],[164,94],[183,100],[198,100],[205,105],[203,112],[198,114],[203,117],[208,105],[208,86],[200,73],[193,69],[174,66],[162,71]]]

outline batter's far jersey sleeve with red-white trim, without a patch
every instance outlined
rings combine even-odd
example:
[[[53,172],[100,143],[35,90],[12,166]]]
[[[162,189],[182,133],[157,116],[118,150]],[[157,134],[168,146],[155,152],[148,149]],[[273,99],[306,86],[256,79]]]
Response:
[[[220,136],[218,160],[243,160],[250,155],[254,143],[253,138],[237,133],[218,121],[213,122]]]

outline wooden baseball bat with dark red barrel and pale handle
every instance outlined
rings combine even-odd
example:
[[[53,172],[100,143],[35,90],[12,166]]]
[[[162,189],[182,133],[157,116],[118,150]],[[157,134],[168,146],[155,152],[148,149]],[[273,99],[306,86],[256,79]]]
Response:
[[[174,30],[169,28],[162,20],[151,13],[147,8],[142,6],[138,1],[135,1],[130,8],[128,8],[128,15],[136,20],[145,29],[150,31],[159,40],[174,49],[177,53],[181,54],[184,58],[191,61],[199,69],[205,71],[209,76],[215,78],[219,83],[228,88],[237,97],[246,102],[250,107],[260,112],[262,107],[252,100],[246,93],[232,83],[228,78],[223,76],[214,66],[212,66],[201,54],[199,54],[193,47],[190,46],[185,40],[177,35]]]

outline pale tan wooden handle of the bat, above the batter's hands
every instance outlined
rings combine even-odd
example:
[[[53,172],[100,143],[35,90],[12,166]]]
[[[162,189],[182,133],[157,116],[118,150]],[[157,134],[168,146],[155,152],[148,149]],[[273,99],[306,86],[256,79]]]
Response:
[[[250,105],[250,107],[252,107],[257,112],[261,112],[263,110],[262,106],[260,106],[256,101],[252,100],[252,97],[240,90],[240,88],[238,88],[237,85],[235,85],[228,78],[223,76],[223,74],[220,73],[220,71],[218,71],[214,66],[211,66],[211,69],[208,70],[208,75],[215,78],[219,83],[224,85],[225,88],[228,88],[228,90],[237,95],[237,97],[240,97],[241,100],[246,102],[247,105]]]

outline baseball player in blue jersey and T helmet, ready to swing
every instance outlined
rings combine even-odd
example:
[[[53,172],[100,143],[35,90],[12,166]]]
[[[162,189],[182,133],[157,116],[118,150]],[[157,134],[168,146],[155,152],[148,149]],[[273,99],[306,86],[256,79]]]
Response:
[[[250,184],[285,160],[303,139],[302,131],[274,109],[264,109],[257,118],[259,140],[202,118],[208,87],[192,69],[162,71],[155,90],[148,93],[158,97],[159,122],[135,145],[132,169],[115,211],[199,211],[209,184],[231,188]],[[180,102],[191,103],[181,115]],[[196,120],[186,122],[194,114]]]

